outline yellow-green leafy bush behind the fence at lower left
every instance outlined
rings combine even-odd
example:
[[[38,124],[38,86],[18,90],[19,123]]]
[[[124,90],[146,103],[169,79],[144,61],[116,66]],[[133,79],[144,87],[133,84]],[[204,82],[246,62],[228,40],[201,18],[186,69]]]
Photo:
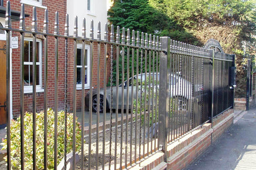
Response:
[[[64,154],[65,137],[65,112],[58,112],[58,164]],[[24,159],[25,169],[33,169],[33,113],[25,113],[24,116]],[[11,121],[11,162],[12,169],[20,169],[20,117],[17,121]],[[1,143],[2,149],[7,148],[7,140]],[[73,146],[73,114],[67,114],[67,153]],[[76,118],[76,150],[81,149],[81,125]],[[54,167],[54,111],[47,109],[47,164],[48,169]],[[7,158],[5,157],[7,161]],[[36,166],[44,168],[44,112],[36,113]]]

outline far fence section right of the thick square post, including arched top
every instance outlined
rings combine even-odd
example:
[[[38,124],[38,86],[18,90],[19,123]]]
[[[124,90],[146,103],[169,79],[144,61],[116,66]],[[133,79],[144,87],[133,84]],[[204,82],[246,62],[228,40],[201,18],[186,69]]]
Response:
[[[234,105],[235,55],[210,39],[204,48],[162,37],[159,145],[212,121]],[[160,102],[161,101],[161,102]]]

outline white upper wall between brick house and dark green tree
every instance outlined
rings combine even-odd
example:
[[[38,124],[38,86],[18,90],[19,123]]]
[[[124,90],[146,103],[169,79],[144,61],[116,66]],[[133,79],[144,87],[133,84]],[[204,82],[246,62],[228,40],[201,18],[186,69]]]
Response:
[[[101,22],[101,39],[105,30],[107,10],[110,0],[91,0],[91,12],[87,10],[87,0],[67,0],[67,13],[69,14],[69,35],[74,33],[75,16],[78,18],[78,36],[82,36],[83,18],[86,20],[86,37],[90,37],[91,20],[94,22],[94,38],[97,38],[98,22]]]

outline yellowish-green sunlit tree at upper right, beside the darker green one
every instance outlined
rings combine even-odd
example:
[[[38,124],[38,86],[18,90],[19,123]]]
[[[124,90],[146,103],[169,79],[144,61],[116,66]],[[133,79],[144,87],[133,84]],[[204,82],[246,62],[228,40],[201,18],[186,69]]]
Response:
[[[236,97],[245,97],[246,56],[242,42],[254,43],[256,31],[255,0],[150,0],[158,10],[165,12],[203,44],[209,38],[217,39],[223,50],[236,54]],[[161,9],[159,8],[161,7]],[[252,54],[255,53],[252,52]]]

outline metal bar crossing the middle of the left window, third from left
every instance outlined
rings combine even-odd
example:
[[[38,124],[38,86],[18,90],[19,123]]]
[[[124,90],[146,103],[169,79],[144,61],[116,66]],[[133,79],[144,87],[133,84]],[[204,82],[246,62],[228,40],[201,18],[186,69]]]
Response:
[[[33,169],[36,169],[36,32],[37,32],[37,17],[36,8],[33,7],[32,19],[33,32]]]

